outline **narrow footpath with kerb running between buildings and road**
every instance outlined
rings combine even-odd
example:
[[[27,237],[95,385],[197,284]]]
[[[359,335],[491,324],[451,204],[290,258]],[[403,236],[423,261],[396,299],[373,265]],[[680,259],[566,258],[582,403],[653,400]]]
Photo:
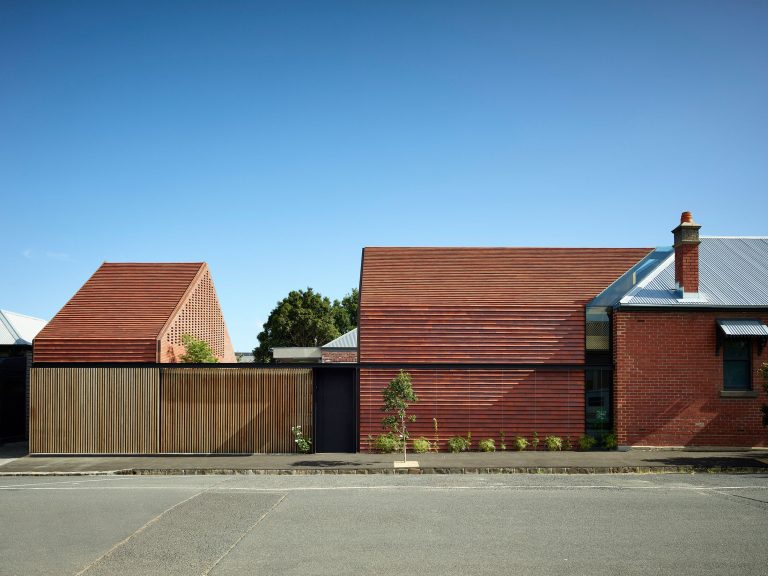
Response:
[[[207,456],[29,456],[0,447],[0,476],[94,474],[477,474],[768,473],[768,449],[745,451],[409,453],[418,468],[395,469],[394,454]]]

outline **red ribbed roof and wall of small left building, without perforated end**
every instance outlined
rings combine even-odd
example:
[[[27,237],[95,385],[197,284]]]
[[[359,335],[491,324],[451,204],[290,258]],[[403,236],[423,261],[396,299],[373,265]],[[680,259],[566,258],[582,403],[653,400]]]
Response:
[[[35,362],[155,362],[203,263],[104,263],[34,341]]]

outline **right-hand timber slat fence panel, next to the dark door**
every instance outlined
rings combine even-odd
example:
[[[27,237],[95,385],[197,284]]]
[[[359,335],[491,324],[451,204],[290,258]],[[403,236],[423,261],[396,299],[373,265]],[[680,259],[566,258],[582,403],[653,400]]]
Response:
[[[162,371],[162,452],[296,452],[291,427],[312,436],[312,370]]]

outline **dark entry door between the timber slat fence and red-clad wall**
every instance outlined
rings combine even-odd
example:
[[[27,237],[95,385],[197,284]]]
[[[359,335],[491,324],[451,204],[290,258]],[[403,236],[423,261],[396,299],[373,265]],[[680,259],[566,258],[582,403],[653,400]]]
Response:
[[[355,452],[355,370],[315,368],[315,451]]]

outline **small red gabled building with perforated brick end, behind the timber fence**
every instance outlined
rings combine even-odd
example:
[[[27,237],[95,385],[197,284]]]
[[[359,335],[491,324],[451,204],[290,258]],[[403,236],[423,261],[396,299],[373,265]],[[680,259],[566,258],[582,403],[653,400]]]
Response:
[[[179,362],[182,337],[234,362],[208,265],[102,264],[34,340],[35,362]]]

